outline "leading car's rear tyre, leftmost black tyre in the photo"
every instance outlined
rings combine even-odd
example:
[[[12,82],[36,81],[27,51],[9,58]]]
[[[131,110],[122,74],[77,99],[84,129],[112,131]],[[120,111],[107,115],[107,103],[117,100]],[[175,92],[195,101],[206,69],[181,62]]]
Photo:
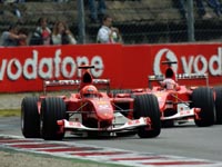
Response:
[[[21,131],[26,138],[40,138],[38,98],[26,97],[21,102]]]

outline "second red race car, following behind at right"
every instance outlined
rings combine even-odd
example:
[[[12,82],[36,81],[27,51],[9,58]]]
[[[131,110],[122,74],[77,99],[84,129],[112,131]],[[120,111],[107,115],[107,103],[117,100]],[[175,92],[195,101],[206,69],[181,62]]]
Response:
[[[176,75],[171,67],[176,62],[163,63],[168,65],[164,76],[149,76],[151,91],[158,97],[162,125],[171,127],[175,122],[184,124],[194,119],[196,126],[205,127],[220,121],[221,118],[215,117],[220,111],[215,110],[215,96],[213,89],[208,87],[208,75]],[[182,79],[192,79],[194,84],[195,80],[204,79],[206,86],[189,88],[178,84]]]

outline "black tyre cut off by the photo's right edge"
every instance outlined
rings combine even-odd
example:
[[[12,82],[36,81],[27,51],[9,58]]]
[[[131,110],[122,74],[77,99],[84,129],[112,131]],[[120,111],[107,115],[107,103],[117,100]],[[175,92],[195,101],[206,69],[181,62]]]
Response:
[[[222,125],[222,87],[214,88],[215,91],[215,124]]]

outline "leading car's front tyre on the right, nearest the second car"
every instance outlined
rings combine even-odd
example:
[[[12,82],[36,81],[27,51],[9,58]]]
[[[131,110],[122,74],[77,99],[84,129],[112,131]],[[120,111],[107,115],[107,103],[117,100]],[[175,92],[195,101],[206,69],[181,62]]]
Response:
[[[151,129],[148,127],[139,127],[138,136],[140,138],[153,138],[161,132],[160,109],[158,99],[154,95],[141,95],[134,98],[134,112],[135,119],[140,117],[150,117]]]

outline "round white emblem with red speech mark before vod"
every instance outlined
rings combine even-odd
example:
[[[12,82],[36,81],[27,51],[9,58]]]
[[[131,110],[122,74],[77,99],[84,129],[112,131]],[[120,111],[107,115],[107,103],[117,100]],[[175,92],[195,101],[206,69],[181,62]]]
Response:
[[[176,61],[178,62],[178,58],[175,56],[175,53],[169,49],[161,49],[154,58],[154,65],[153,65],[153,71],[154,75],[162,75],[163,72],[161,71],[161,62],[162,61]],[[172,65],[173,70],[176,72],[178,71],[178,63]]]

